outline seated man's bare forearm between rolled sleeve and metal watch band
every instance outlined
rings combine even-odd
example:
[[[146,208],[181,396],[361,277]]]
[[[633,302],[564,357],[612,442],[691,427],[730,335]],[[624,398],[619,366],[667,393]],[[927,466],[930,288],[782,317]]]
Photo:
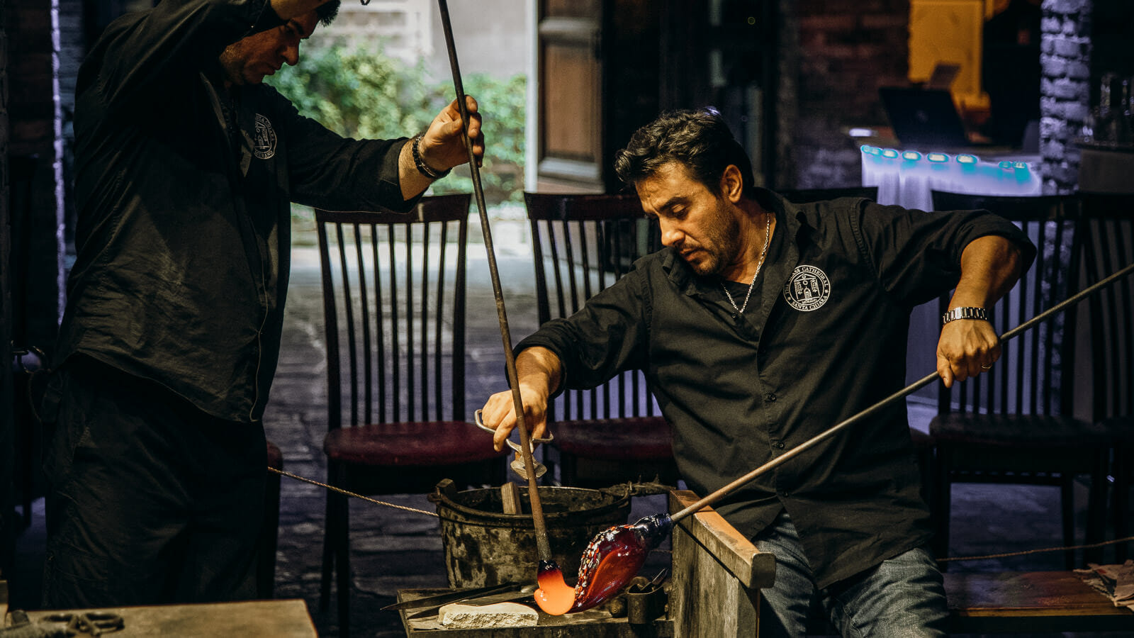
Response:
[[[960,280],[949,309],[991,308],[1021,276],[1019,249],[998,235],[978,237],[960,253]]]

